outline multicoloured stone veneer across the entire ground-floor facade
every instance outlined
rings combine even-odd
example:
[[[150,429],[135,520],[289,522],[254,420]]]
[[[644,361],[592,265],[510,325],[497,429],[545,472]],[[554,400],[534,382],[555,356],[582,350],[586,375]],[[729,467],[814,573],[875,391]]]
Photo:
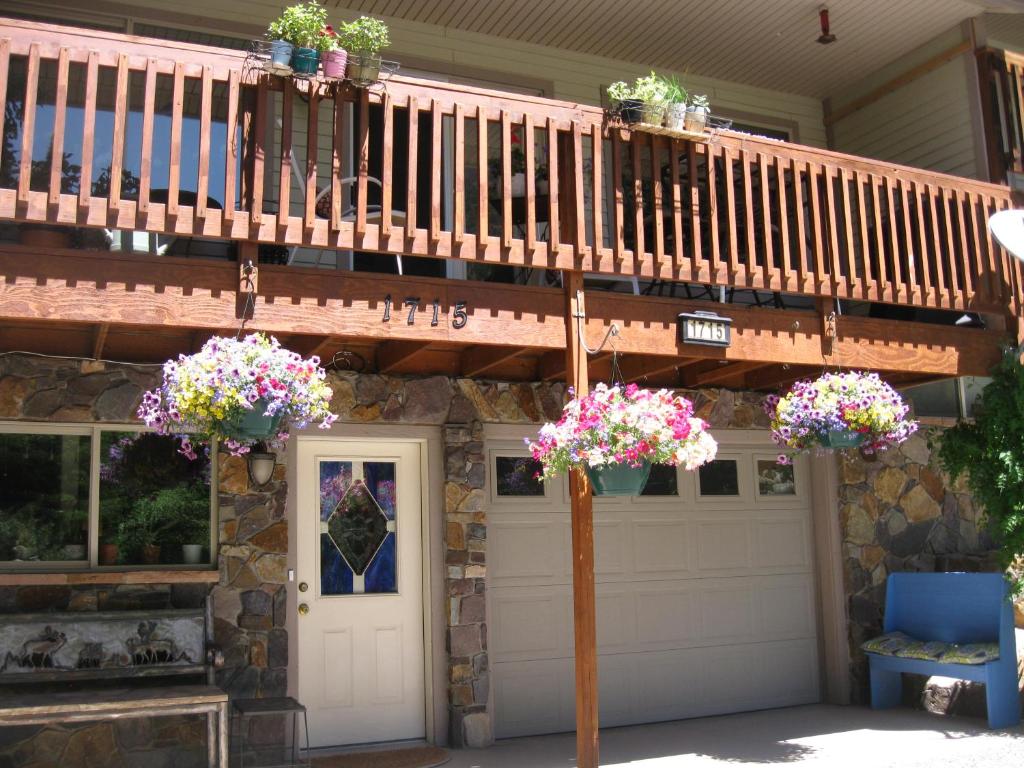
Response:
[[[0,419],[131,422],[156,369],[29,356],[0,357]],[[446,649],[451,741],[492,740],[486,584],[484,423],[536,424],[557,417],[560,383],[507,384],[468,379],[332,374],[333,410],[347,423],[437,426],[444,446]],[[761,395],[685,391],[697,415],[717,428],[766,428]],[[213,588],[215,636],[226,665],[218,681],[236,696],[287,690],[285,630],[288,488],[285,467],[270,485],[248,486],[245,462],[219,457],[220,578]],[[969,497],[933,466],[927,442],[912,438],[879,462],[840,463],[844,564],[850,611],[851,674],[864,676],[856,646],[880,625],[885,575],[899,569],[980,566],[989,543],[979,534]],[[26,590],[0,592],[0,605],[23,610]],[[13,590],[13,591],[11,591]],[[116,592],[116,590],[115,590]],[[33,594],[29,592],[28,594]],[[43,594],[36,592],[35,594]],[[44,604],[63,607],[61,599]],[[98,604],[98,597],[97,597]],[[281,737],[275,728],[254,736]],[[200,734],[202,738],[202,734]],[[2,763],[0,763],[2,765]]]

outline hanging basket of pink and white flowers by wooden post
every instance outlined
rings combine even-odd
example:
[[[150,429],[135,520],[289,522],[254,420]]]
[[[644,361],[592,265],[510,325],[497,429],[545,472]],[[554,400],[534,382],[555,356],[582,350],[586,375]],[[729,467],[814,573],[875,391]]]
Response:
[[[598,384],[573,397],[561,419],[527,440],[543,477],[584,468],[598,496],[636,496],[651,464],[692,470],[712,461],[718,443],[693,406],[667,389]]]

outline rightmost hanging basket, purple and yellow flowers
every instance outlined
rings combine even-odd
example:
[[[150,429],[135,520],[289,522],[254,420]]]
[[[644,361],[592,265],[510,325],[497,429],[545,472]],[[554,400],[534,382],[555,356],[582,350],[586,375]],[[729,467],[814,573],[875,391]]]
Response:
[[[764,408],[772,439],[785,450],[780,464],[813,449],[856,447],[870,460],[918,430],[899,392],[878,374],[860,371],[798,381],[782,397],[768,397]]]

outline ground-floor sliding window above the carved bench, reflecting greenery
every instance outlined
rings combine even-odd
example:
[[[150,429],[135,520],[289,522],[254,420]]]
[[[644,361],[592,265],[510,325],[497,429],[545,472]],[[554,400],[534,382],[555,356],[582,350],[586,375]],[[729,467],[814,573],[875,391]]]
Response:
[[[0,567],[209,566],[212,473],[136,427],[0,424]]]

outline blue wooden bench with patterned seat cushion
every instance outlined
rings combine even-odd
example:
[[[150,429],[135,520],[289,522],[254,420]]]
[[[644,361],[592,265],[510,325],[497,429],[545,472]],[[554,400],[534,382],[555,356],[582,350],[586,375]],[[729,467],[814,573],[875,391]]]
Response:
[[[871,707],[896,707],[901,675],[940,675],[985,684],[988,727],[1020,723],[1013,607],[1000,573],[892,573],[885,635],[861,647]]]

